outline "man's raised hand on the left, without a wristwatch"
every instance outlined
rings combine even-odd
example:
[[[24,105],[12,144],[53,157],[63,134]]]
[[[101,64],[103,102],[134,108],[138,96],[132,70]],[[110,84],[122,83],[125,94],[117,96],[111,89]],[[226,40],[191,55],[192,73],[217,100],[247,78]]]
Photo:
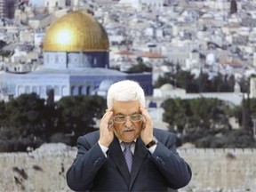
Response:
[[[113,120],[111,117],[113,116],[112,109],[107,109],[106,113],[102,117],[100,121],[100,145],[108,148],[112,140],[114,139],[113,133]]]

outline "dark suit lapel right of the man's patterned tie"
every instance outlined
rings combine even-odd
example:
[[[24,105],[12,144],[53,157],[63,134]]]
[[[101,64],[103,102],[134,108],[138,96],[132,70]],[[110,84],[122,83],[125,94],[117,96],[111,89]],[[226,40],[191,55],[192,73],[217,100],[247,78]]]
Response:
[[[148,150],[145,148],[143,141],[138,138],[136,140],[136,146],[134,151],[134,156],[132,159],[132,172],[129,189],[132,188],[133,182],[136,179],[138,172],[140,171],[141,164],[145,161],[148,155]]]

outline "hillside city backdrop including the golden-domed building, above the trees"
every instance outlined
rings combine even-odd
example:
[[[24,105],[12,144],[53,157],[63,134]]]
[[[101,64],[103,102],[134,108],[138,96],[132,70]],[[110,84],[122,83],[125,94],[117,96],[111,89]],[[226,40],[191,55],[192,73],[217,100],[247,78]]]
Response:
[[[228,0],[2,0],[2,99],[29,92],[46,98],[50,89],[55,100],[66,95],[105,95],[110,84],[132,78],[153,96],[149,101],[203,96],[239,104],[240,79],[256,74],[256,4],[235,3],[237,12],[231,14]],[[92,17],[83,13],[71,20],[72,12]],[[66,42],[70,33],[76,36],[72,44]],[[138,58],[153,68],[152,74],[124,73],[138,64]],[[195,76],[200,71],[234,75],[234,92],[189,95],[170,84],[153,92],[157,77],[178,64]],[[251,78],[251,97],[255,90]]]

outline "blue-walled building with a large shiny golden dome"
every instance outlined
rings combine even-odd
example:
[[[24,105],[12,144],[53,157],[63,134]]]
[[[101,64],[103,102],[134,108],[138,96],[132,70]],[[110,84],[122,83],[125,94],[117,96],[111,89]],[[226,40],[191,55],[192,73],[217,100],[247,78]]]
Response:
[[[151,73],[126,74],[108,68],[107,32],[87,12],[68,12],[54,21],[45,33],[43,51],[44,65],[35,71],[19,74],[7,70],[0,75],[2,96],[15,98],[36,92],[46,99],[50,90],[54,92],[54,100],[97,92],[104,96],[108,87],[104,85],[104,90],[100,90],[102,82],[124,79],[139,82],[146,94],[152,94]]]

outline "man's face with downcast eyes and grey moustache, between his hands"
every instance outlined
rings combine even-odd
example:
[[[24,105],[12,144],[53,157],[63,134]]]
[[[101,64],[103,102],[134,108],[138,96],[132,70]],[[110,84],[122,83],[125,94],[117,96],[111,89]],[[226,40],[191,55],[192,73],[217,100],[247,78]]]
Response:
[[[114,132],[119,140],[131,142],[140,136],[143,120],[132,122],[128,116],[140,114],[140,102],[136,101],[117,101],[113,102],[113,116],[125,116],[124,123],[114,121]]]

